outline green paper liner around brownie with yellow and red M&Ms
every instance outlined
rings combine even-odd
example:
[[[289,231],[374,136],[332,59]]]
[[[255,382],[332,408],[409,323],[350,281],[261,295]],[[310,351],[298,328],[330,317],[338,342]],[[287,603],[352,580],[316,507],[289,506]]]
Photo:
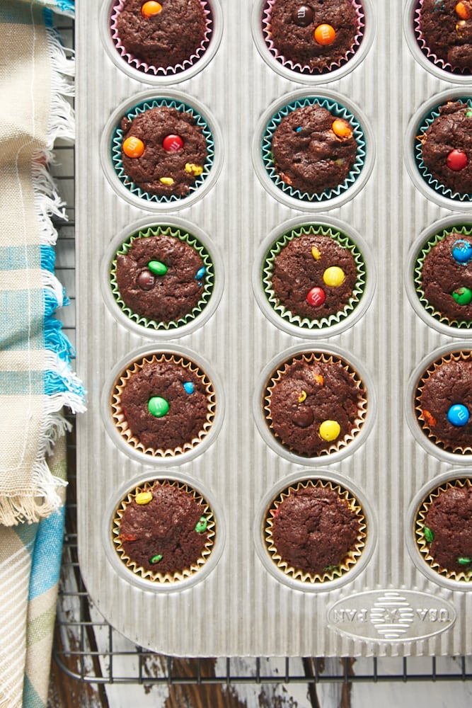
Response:
[[[357,268],[357,282],[355,288],[352,290],[352,295],[349,301],[344,305],[343,309],[339,312],[330,314],[328,316],[323,316],[321,318],[308,318],[302,317],[294,314],[289,309],[286,309],[283,304],[279,302],[276,293],[272,290],[272,273],[275,265],[275,260],[280,252],[287,246],[290,241],[299,238],[299,236],[309,236],[311,234],[321,234],[323,236],[329,236],[333,241],[338,243],[343,248],[348,249],[352,256],[355,258],[356,268]],[[349,236],[343,234],[343,232],[333,229],[332,227],[323,226],[322,224],[306,224],[295,229],[290,229],[288,232],[282,234],[269,251],[265,257],[265,263],[263,264],[263,284],[265,286],[265,296],[270,303],[272,309],[277,312],[282,319],[287,320],[290,324],[299,326],[301,329],[325,329],[326,327],[338,324],[338,322],[343,321],[351,312],[357,307],[360,299],[364,293],[364,288],[367,280],[367,269],[362,257],[362,253],[357,249],[354,241],[350,239]],[[317,285],[317,283],[313,283]]]

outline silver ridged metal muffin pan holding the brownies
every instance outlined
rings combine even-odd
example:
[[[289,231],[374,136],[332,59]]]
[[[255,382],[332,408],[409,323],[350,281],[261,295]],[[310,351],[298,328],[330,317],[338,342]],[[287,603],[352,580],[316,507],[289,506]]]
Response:
[[[270,54],[262,0],[207,4],[207,50],[182,72],[156,74],[116,51],[110,0],[77,7],[77,369],[88,391],[77,421],[78,518],[88,592],[120,632],[166,654],[470,654],[472,581],[434,571],[417,533],[430,491],[472,479],[470,455],[434,445],[415,412],[422,371],[470,350],[470,331],[433,317],[415,278],[426,241],[468,224],[472,212],[469,199],[425,181],[415,142],[427,114],[472,96],[472,84],[422,54],[413,2],[362,0],[362,42],[320,76],[289,71]],[[267,131],[274,116],[313,102],[353,120],[361,149],[349,183],[301,198],[271,176]],[[210,157],[184,198],[149,198],[122,171],[120,120],[146,105],[190,110],[205,127]],[[135,234],[167,227],[202,247],[211,288],[189,319],[149,326],[120,306],[110,273]],[[282,317],[264,282],[273,244],[312,227],[340,234],[362,262],[355,307],[323,326]],[[346,362],[367,406],[350,442],[310,458],[271,432],[265,390],[281,362],[313,353]],[[212,389],[207,434],[177,454],[130,444],[113,395],[121,372],[161,356],[205,372]],[[122,500],[155,479],[195,490],[214,515],[205,562],[165,582],[134,572],[113,540]],[[299,484],[341,489],[362,508],[364,545],[345,572],[307,581],[271,556],[267,513]]]

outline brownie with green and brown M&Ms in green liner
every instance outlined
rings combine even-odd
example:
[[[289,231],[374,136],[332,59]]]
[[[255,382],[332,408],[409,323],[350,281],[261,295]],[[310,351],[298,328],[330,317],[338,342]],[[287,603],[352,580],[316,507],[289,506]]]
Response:
[[[127,253],[118,253],[116,280],[122,301],[133,312],[168,323],[199,304],[205,266],[192,246],[161,233],[134,239]]]

